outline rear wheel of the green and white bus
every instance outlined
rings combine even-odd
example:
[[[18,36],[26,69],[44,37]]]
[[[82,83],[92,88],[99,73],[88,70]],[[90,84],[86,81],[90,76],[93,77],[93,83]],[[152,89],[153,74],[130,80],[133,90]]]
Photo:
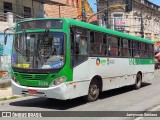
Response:
[[[135,80],[135,84],[134,84],[134,88],[136,90],[140,89],[142,86],[142,75],[140,73],[138,73],[136,75],[136,80]]]

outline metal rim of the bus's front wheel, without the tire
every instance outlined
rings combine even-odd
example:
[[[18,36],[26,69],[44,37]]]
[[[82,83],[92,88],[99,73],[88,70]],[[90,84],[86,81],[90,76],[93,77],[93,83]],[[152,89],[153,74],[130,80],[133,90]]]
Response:
[[[89,96],[92,99],[96,99],[99,95],[99,88],[96,84],[92,84],[89,89]]]

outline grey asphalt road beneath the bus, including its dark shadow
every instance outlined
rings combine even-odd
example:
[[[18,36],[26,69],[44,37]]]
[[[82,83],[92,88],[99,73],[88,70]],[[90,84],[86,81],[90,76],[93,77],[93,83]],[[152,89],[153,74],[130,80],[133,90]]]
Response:
[[[0,111],[145,111],[160,104],[160,70],[155,71],[155,78],[144,83],[142,88],[134,90],[132,86],[103,92],[99,100],[86,103],[82,98],[68,101],[48,100],[46,98],[23,97],[0,102]],[[63,115],[62,115],[63,116]],[[32,120],[32,118],[30,118]],[[38,120],[51,118],[38,118]],[[52,120],[133,120],[129,117],[54,117]]]

